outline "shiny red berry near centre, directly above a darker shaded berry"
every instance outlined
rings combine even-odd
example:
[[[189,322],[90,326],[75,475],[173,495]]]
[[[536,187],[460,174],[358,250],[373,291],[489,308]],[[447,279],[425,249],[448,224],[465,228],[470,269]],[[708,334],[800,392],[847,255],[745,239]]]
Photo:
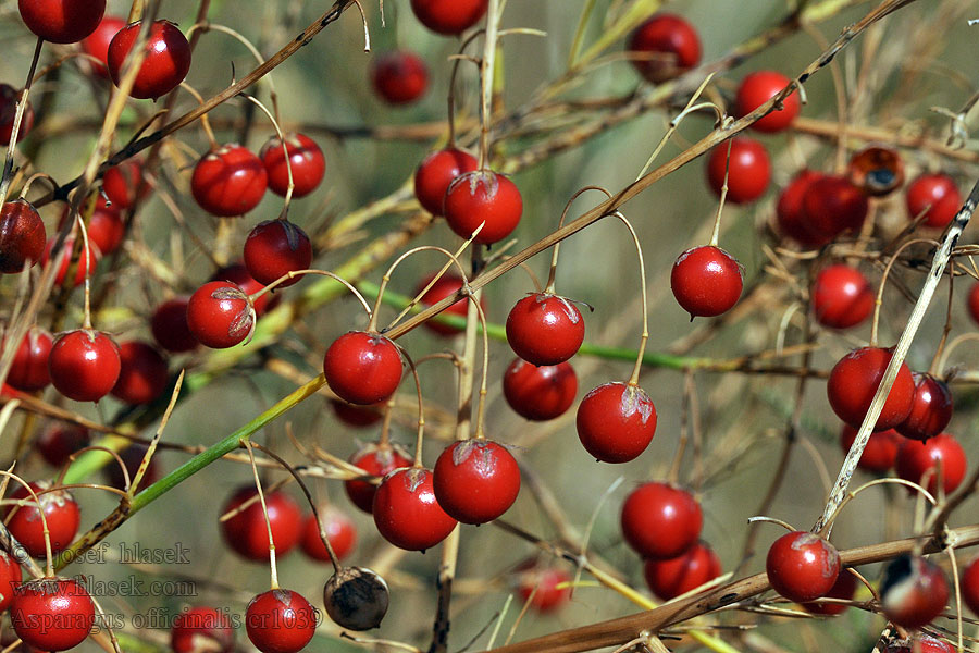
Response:
[[[507,342],[528,362],[557,365],[574,356],[584,342],[584,318],[563,297],[528,295],[507,316]]]

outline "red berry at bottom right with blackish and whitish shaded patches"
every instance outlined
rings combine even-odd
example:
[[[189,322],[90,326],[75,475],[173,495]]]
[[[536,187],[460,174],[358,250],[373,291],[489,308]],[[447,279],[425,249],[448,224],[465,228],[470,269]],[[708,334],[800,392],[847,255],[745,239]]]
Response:
[[[920,628],[945,609],[949,581],[933,563],[903,554],[884,569],[880,600],[888,619],[904,628]]]

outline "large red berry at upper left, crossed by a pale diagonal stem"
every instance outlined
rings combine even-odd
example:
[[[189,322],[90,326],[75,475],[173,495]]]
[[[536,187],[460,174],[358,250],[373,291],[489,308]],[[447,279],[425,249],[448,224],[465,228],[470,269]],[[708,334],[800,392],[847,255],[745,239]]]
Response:
[[[116,86],[122,81],[123,64],[129,50],[136,45],[139,28],[140,21],[129,23],[109,44],[106,63],[112,83]],[[184,33],[170,21],[156,21],[150,27],[146,58],[136,73],[136,83],[133,84],[129,97],[156,100],[179,86],[189,70],[190,44]]]

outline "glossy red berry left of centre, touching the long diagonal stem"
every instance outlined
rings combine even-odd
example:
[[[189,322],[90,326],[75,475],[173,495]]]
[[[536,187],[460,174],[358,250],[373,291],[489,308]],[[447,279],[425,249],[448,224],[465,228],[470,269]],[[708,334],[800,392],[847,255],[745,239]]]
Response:
[[[391,398],[401,382],[401,355],[377,333],[350,331],[339,336],[323,357],[330,390],[351,404],[376,404]]]

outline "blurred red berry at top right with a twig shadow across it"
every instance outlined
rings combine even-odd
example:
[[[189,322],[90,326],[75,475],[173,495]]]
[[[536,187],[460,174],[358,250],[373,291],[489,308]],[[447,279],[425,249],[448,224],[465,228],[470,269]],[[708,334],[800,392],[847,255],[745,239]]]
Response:
[[[632,64],[640,74],[654,84],[661,84],[701,63],[701,38],[682,17],[661,13],[632,33],[629,51],[637,54]]]

